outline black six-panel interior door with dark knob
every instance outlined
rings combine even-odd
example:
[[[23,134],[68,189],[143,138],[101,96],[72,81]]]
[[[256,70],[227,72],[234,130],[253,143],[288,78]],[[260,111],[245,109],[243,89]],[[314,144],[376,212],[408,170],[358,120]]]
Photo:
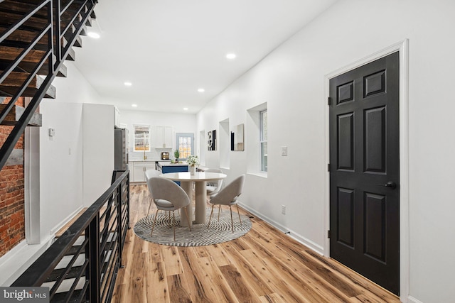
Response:
[[[399,56],[330,80],[330,255],[400,290]]]

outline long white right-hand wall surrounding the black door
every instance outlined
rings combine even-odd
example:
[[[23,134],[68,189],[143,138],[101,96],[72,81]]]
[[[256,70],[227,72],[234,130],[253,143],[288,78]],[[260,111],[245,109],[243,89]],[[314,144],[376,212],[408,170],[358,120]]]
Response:
[[[410,302],[452,302],[455,297],[455,203],[449,190],[455,180],[450,168],[455,165],[455,100],[446,92],[455,82],[454,11],[455,2],[449,0],[338,1],[197,116],[198,131],[217,129],[230,119],[245,123],[248,133],[246,110],[267,101],[268,177],[247,175],[241,202],[323,250],[325,75],[408,38],[410,290],[402,299]],[[288,147],[287,157],[280,155],[281,146]],[[206,154],[207,165],[217,166],[218,152]],[[231,153],[230,178],[246,172],[247,154]]]

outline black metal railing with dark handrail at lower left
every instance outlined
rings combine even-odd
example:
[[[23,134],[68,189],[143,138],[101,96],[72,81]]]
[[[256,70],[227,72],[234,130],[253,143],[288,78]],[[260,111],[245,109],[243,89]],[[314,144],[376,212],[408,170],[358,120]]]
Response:
[[[110,302],[129,229],[129,171],[11,285],[49,287],[50,302]]]

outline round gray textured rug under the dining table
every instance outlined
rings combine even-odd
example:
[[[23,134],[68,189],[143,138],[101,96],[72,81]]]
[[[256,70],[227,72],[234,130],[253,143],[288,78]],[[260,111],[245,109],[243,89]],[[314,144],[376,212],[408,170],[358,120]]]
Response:
[[[218,207],[213,209],[213,218],[208,227],[208,218],[211,208],[206,209],[207,221],[203,224],[193,224],[191,231],[188,227],[180,226],[179,211],[176,211],[176,241],[173,240],[173,219],[166,217],[164,211],[159,211],[156,217],[154,234],[150,236],[151,226],[154,223],[154,215],[146,216],[134,224],[134,233],[145,241],[168,245],[168,246],[206,246],[239,238],[251,229],[251,221],[245,215],[240,215],[240,224],[237,212],[232,209],[234,219],[234,232],[232,233],[230,211],[223,209],[218,221]]]

